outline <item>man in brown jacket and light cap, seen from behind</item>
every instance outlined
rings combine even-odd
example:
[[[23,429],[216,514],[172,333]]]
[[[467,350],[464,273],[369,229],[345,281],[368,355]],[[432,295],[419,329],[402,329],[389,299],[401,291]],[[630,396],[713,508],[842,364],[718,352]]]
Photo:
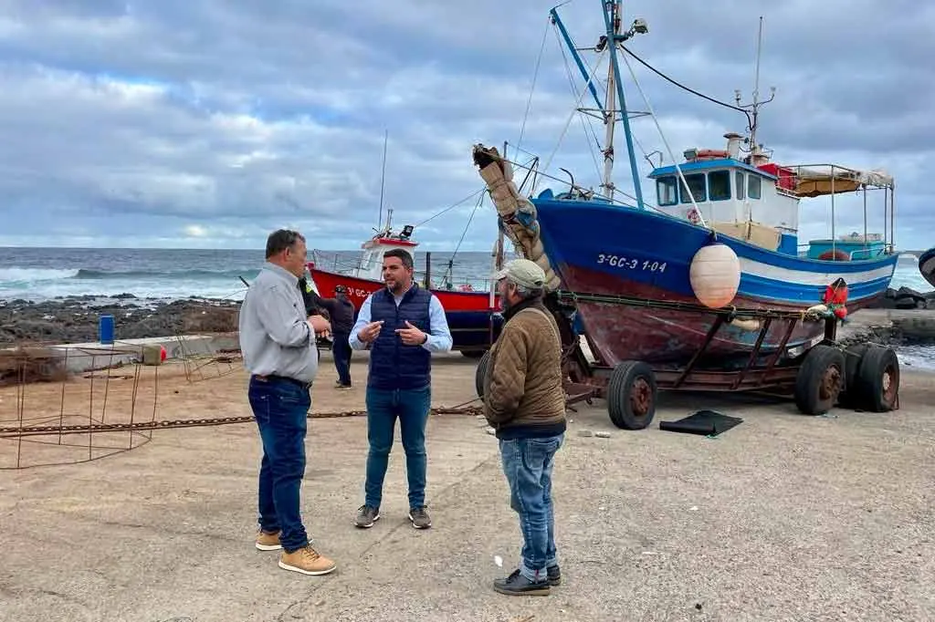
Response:
[[[535,262],[510,262],[496,280],[506,321],[487,363],[484,416],[499,439],[524,546],[519,568],[494,589],[548,595],[561,582],[552,506],[554,455],[566,428],[561,339],[542,305],[545,273]]]

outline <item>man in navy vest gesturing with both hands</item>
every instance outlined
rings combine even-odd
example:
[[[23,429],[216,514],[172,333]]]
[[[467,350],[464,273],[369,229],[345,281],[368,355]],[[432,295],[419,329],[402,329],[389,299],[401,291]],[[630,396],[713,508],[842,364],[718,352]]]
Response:
[[[355,350],[369,349],[367,375],[367,483],[357,527],[380,518],[383,478],[393,446],[396,417],[409,480],[410,521],[432,526],[425,509],[425,423],[431,407],[432,352],[452,349],[445,310],[429,290],[412,280],[412,256],[402,248],[383,254],[386,287],[367,296],[351,330]]]

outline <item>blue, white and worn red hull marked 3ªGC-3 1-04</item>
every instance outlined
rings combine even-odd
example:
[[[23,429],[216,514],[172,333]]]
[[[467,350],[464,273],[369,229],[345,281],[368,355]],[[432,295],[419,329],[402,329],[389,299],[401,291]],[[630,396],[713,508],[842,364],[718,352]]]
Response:
[[[698,248],[712,242],[705,229],[646,210],[583,201],[537,199],[546,255],[565,290],[697,305],[689,268]],[[569,234],[569,232],[574,232]],[[822,262],[770,252],[718,234],[741,262],[741,283],[732,305],[758,310],[805,311],[822,302],[828,285],[847,282],[850,313],[884,295],[897,256],[859,262]],[[579,301],[576,304],[592,352],[602,364],[644,360],[683,365],[705,345],[716,319],[703,311]],[[761,351],[780,346],[787,322],[774,321]],[[821,339],[823,322],[799,321],[786,347]],[[746,364],[759,330],[726,324],[705,348],[714,366]],[[795,353],[795,350],[793,350]]]

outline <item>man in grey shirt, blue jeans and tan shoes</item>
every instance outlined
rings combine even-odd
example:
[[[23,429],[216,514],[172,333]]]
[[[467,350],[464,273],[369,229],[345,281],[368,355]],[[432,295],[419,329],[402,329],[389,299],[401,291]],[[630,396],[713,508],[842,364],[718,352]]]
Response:
[[[279,565],[285,570],[326,574],[335,570],[335,562],[312,548],[299,498],[310,388],[318,371],[315,333],[329,328],[321,316],[306,314],[298,290],[306,254],[300,233],[281,229],[269,234],[266,262],[240,307],[239,338],[263,443],[256,548],[282,549]]]

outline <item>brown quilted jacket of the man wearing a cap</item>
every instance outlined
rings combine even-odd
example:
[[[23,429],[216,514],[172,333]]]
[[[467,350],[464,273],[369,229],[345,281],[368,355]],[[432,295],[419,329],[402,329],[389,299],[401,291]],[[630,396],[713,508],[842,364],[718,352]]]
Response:
[[[484,417],[501,439],[560,434],[565,391],[555,320],[538,302],[518,304],[504,317],[484,376]]]

